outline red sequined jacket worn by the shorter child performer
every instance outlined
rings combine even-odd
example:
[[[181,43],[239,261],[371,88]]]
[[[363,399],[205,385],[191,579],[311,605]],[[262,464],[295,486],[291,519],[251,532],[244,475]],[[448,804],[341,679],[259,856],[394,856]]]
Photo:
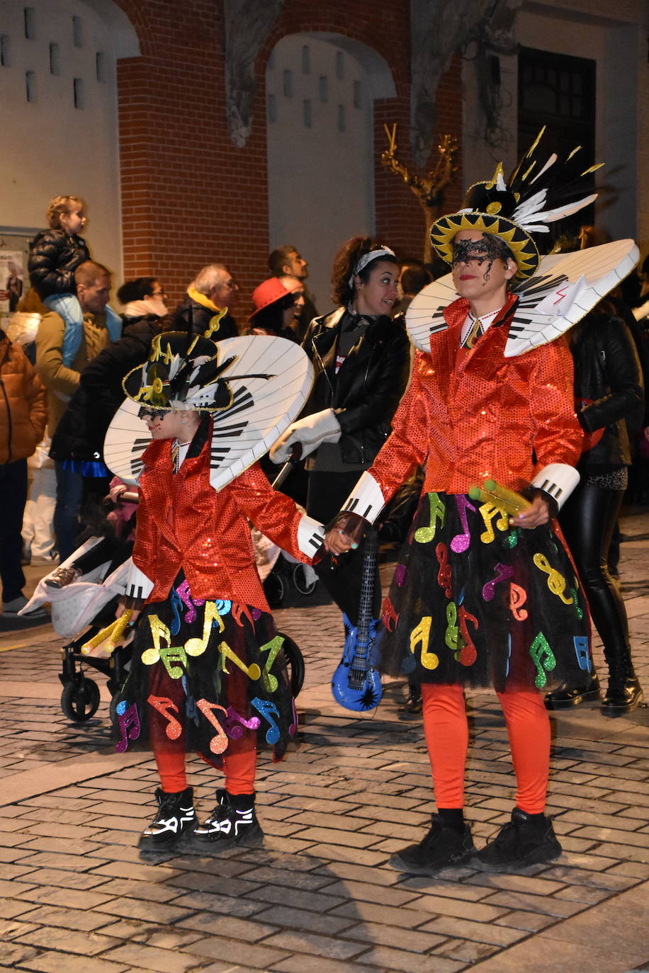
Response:
[[[209,438],[198,456],[173,473],[171,440],[154,441],[143,454],[140,506],[132,559],[154,582],[137,590],[131,571],[127,594],[162,601],[182,567],[192,595],[231,599],[269,611],[255,567],[252,521],[295,558],[310,562],[320,545],[318,524],[289,497],[275,492],[254,464],[218,493],[209,483]]]

